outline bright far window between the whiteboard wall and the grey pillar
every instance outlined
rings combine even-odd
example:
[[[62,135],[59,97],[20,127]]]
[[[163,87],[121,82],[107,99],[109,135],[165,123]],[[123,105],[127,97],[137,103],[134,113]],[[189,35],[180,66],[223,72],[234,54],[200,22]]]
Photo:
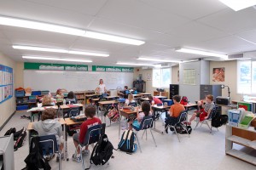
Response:
[[[169,88],[171,83],[171,68],[153,69],[152,86],[154,88]]]

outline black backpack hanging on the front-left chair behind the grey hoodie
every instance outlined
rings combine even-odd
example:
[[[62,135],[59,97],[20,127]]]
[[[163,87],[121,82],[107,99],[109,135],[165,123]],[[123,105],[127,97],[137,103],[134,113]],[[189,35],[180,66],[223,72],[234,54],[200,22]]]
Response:
[[[46,161],[42,155],[42,150],[39,149],[39,137],[34,137],[30,144],[30,153],[24,160],[26,167],[22,170],[50,170],[48,161]]]

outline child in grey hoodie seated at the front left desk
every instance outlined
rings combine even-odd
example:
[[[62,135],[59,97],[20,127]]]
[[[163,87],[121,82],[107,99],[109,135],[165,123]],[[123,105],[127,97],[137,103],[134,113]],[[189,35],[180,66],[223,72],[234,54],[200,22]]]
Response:
[[[38,132],[38,136],[45,136],[49,134],[55,134],[58,145],[60,146],[60,150],[63,150],[64,138],[62,136],[62,127],[61,123],[55,119],[56,110],[53,108],[49,108],[44,110],[42,114],[42,121],[34,122],[32,124],[32,128]],[[47,156],[46,159],[49,160],[53,158],[55,154],[52,156]],[[61,154],[61,158],[64,157],[64,153]],[[56,158],[56,161],[60,161],[59,155]]]

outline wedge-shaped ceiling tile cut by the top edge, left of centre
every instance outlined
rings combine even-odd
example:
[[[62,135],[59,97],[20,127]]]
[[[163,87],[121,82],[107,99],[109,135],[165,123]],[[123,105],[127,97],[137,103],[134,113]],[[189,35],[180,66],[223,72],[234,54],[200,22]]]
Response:
[[[56,8],[64,8],[81,14],[96,15],[107,0],[26,0],[33,3],[41,3]]]

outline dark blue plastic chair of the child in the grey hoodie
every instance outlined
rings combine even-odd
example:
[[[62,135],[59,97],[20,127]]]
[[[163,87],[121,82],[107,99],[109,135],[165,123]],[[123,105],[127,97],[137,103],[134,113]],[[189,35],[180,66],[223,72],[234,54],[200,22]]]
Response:
[[[59,151],[59,147],[57,144],[57,140],[55,134],[50,134],[46,136],[39,136],[39,147],[44,154],[55,154],[59,155],[59,170],[61,170],[61,152]]]

